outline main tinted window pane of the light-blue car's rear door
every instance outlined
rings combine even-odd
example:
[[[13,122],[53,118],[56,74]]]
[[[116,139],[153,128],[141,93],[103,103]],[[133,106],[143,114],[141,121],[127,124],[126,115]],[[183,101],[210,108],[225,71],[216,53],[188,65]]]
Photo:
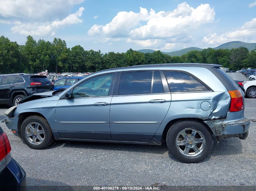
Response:
[[[152,72],[121,73],[118,95],[151,93]]]

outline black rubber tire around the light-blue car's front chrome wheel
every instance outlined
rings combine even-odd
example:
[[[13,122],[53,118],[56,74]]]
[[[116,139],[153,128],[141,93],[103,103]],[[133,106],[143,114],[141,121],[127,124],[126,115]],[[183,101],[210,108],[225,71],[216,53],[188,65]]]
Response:
[[[30,123],[38,123],[40,125],[40,128],[43,129],[44,137],[43,137],[42,143],[33,144],[29,141],[29,138],[27,138],[26,127]],[[52,135],[52,129],[49,126],[48,121],[45,118],[38,116],[38,115],[29,116],[23,121],[22,126],[21,126],[21,136],[22,136],[22,139],[24,140],[24,142],[26,143],[26,145],[28,145],[30,148],[33,148],[33,149],[45,149],[45,148],[49,147],[50,145],[52,145],[55,140]],[[33,136],[34,135],[32,135],[30,138],[33,138]],[[35,139],[35,140],[39,141],[39,139]]]

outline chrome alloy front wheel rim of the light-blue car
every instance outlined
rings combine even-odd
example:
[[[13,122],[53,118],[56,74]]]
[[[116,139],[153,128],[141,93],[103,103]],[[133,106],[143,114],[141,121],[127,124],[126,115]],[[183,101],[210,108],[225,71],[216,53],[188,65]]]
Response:
[[[39,145],[44,141],[45,131],[39,123],[29,123],[25,128],[27,140],[33,145]]]

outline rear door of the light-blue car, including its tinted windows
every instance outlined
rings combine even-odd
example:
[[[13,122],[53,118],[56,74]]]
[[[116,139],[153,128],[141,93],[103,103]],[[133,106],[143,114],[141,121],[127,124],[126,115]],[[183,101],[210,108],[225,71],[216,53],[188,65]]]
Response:
[[[171,94],[162,71],[119,72],[110,106],[113,140],[148,142],[170,103]]]

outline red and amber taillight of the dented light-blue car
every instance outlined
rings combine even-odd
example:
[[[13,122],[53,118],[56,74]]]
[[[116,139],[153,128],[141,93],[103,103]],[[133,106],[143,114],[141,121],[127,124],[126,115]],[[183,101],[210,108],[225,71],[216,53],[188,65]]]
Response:
[[[243,96],[239,90],[228,91],[231,97],[230,112],[241,111],[244,109]]]

